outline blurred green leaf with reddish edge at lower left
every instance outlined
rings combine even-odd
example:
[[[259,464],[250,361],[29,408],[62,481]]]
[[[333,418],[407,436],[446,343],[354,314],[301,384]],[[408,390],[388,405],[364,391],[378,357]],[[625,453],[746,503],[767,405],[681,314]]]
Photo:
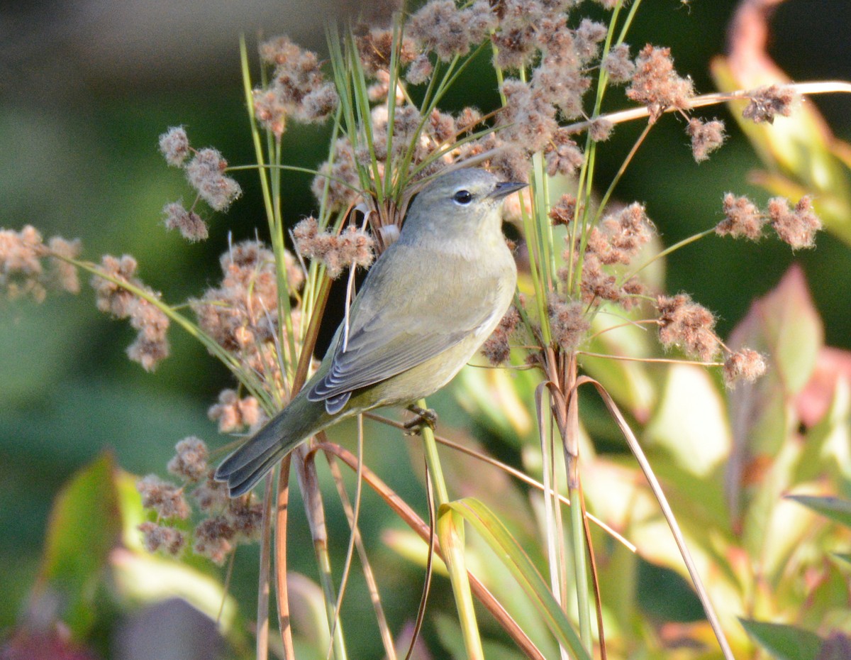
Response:
[[[34,597],[56,597],[60,619],[77,638],[94,623],[95,594],[121,535],[111,454],[81,469],[60,491],[50,513]]]

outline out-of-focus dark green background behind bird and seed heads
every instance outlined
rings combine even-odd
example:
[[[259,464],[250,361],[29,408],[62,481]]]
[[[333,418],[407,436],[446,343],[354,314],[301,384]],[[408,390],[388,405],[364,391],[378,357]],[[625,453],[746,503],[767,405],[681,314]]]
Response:
[[[670,46],[677,70],[700,91],[713,89],[708,63],[722,54],[732,0],[646,2],[628,40]],[[311,3],[134,2],[18,3],[0,7],[0,227],[38,227],[44,236],[81,238],[83,256],[129,253],[140,277],[168,301],[199,296],[219,277],[218,256],[234,241],[266,231],[256,178],[239,175],[244,196],[227,215],[208,214],[210,238],[188,245],[161,224],[163,204],[191,202],[178,170],[157,152],[157,135],[186,126],[193,146],[216,146],[230,164],[250,164],[253,149],[243,103],[237,39],[287,32],[303,45],[324,49],[317,22],[334,5]],[[592,8],[596,11],[596,8]],[[774,18],[772,55],[797,80],[851,79],[851,4],[845,0],[789,0]],[[457,106],[489,109],[495,81],[469,75]],[[851,141],[851,100],[815,99],[837,136]],[[611,107],[625,106],[620,93]],[[615,193],[637,199],[666,244],[711,227],[721,217],[724,192],[766,192],[750,186],[756,155],[722,107],[730,140],[707,163],[694,164],[683,120],[666,117],[651,132]],[[620,165],[640,127],[615,132],[598,152],[606,181]],[[312,167],[327,151],[327,129],[294,126],[284,136],[283,160]],[[313,209],[310,177],[292,175],[286,216],[298,221]],[[848,247],[828,234],[814,251],[791,255],[785,245],[710,238],[671,257],[669,289],[685,290],[719,314],[726,335],[755,296],[771,289],[791,261],[802,263],[825,320],[827,343],[851,348]],[[43,304],[0,301],[0,629],[12,625],[37,573],[49,505],[77,468],[106,448],[133,473],[164,473],[174,443],[196,434],[213,446],[219,437],[206,410],[226,371],[179,330],[169,333],[172,358],[155,374],[126,359],[133,339],[127,324],[79,296],[50,295]],[[450,405],[451,395],[443,396]],[[448,419],[452,419],[449,411]],[[384,445],[387,446],[387,445]],[[376,452],[378,454],[380,452]],[[380,462],[408,461],[374,456]],[[408,470],[405,473],[409,473]],[[422,502],[419,483],[394,483]],[[299,507],[294,507],[298,512]],[[380,508],[364,523],[379,529]],[[389,515],[389,514],[387,514]],[[302,528],[303,529],[303,528]],[[374,547],[379,548],[376,538]],[[237,560],[234,591],[253,602],[256,548]],[[384,551],[386,552],[386,551]],[[294,569],[312,575],[310,556]],[[408,576],[418,584],[418,571]],[[412,590],[414,602],[416,595]],[[407,595],[407,594],[406,594]]]

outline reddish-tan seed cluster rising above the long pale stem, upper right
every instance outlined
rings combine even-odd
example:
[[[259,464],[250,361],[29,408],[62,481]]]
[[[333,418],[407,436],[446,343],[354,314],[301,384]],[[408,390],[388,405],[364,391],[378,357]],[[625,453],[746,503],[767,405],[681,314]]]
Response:
[[[637,103],[648,106],[650,121],[660,118],[665,109],[684,110],[694,96],[690,78],[680,77],[671,60],[671,49],[646,45],[636,58],[636,72],[626,95]]]

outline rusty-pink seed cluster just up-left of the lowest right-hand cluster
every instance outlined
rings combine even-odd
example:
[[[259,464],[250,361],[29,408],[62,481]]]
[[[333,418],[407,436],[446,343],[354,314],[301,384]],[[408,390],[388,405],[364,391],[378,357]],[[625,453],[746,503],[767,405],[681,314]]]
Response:
[[[715,317],[686,294],[657,296],[659,340],[665,348],[681,347],[692,358],[709,362],[720,346]]]

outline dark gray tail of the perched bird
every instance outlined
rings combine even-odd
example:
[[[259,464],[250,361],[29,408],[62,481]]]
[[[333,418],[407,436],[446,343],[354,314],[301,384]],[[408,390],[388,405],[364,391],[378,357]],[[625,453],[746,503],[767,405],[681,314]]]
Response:
[[[243,495],[283,456],[333,421],[323,401],[309,401],[303,392],[228,456],[214,479],[227,483],[231,497]]]

